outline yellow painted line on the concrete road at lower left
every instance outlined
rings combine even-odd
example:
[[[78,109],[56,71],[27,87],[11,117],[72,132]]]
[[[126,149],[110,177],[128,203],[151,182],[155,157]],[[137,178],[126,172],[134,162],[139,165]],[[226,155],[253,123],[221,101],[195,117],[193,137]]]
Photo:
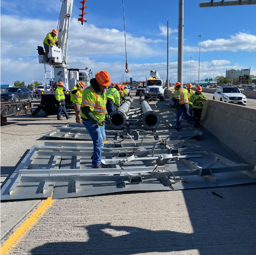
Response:
[[[29,231],[36,225],[36,223],[43,217],[43,214],[46,213],[48,207],[55,200],[52,200],[52,197],[48,197],[42,204],[31,214],[29,218],[26,219],[24,223],[20,225],[19,228],[2,244],[1,246],[1,255],[8,254],[11,251],[11,248],[17,246],[20,241],[29,233]]]

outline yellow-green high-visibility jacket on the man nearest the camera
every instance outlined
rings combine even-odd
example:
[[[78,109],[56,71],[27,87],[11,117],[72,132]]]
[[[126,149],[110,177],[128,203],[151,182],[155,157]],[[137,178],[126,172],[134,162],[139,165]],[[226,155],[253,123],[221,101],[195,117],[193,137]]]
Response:
[[[92,112],[92,115],[99,121],[105,120],[106,103],[107,103],[107,97],[106,97],[105,90],[103,92],[103,96],[99,92],[96,92],[93,89],[92,85],[89,85],[83,91],[81,107],[89,106]],[[87,117],[82,113],[82,111],[80,115],[81,117],[87,119]]]

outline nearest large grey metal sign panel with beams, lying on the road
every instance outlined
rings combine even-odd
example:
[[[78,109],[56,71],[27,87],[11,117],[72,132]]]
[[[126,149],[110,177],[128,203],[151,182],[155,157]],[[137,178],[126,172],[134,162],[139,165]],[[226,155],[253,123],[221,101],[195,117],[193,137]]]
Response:
[[[132,145],[132,146],[130,146]],[[182,190],[253,183],[254,165],[239,165],[210,147],[166,142],[107,143],[102,169],[91,168],[90,143],[33,146],[1,189],[1,200],[53,199],[123,191]]]

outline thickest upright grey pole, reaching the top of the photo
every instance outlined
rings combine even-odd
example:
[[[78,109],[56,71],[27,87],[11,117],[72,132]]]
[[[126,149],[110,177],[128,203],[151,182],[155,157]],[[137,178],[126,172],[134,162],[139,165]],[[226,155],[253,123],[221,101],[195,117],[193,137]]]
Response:
[[[179,32],[178,32],[178,82],[183,81],[183,9],[184,0],[179,0]]]

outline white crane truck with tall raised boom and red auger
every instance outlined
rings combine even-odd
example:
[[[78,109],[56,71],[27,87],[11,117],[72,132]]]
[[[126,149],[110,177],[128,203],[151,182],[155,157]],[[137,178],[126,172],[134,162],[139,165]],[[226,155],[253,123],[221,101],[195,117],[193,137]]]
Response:
[[[84,1],[82,1],[83,7]],[[85,69],[67,69],[67,49],[68,49],[68,30],[70,26],[71,13],[72,13],[73,0],[63,0],[61,5],[60,20],[59,26],[57,28],[58,34],[58,44],[61,47],[60,49],[57,46],[52,48],[49,46],[49,53],[46,56],[42,46],[37,46],[39,63],[45,65],[45,78],[43,79],[43,90],[35,91],[41,96],[41,103],[37,105],[37,109],[34,111],[34,115],[39,112],[41,109],[46,114],[56,114],[57,113],[57,101],[55,99],[55,89],[59,82],[64,83],[63,92],[65,94],[66,108],[72,108],[71,99],[71,90],[72,87],[76,85],[77,81],[84,81],[86,86],[90,84],[91,79],[91,70],[87,71]],[[83,9],[83,8],[82,8]],[[82,11],[85,14],[85,12]],[[81,16],[81,15],[80,15]],[[84,19],[85,20],[85,19]],[[83,21],[83,22],[86,22]],[[46,70],[50,66],[50,70]],[[46,68],[47,67],[47,68]],[[51,67],[54,70],[54,78],[52,78]],[[47,78],[46,73],[50,73],[50,78]],[[45,80],[48,80],[48,84]],[[33,83],[33,79],[32,79]],[[50,89],[47,89],[47,86],[50,86]]]

